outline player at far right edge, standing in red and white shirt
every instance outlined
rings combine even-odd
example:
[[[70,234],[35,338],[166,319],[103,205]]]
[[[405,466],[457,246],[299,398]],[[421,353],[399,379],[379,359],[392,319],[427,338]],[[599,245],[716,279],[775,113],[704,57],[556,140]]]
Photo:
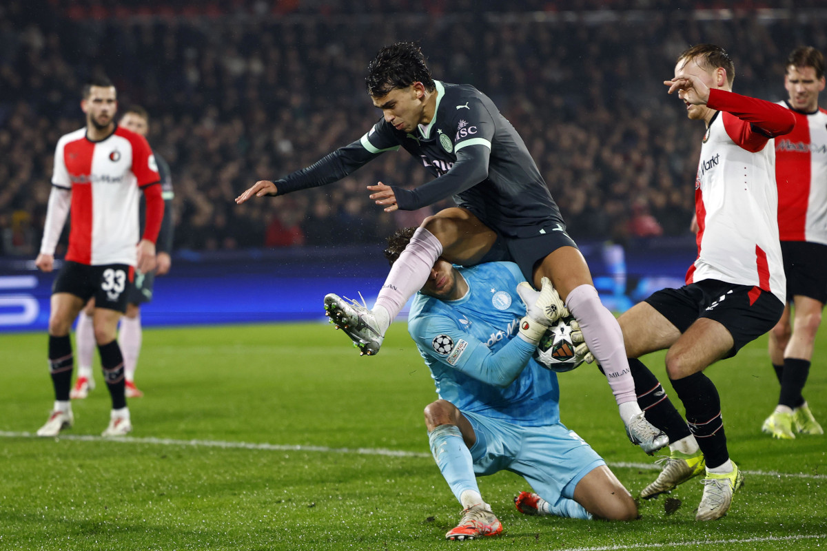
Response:
[[[789,97],[780,103],[796,116],[796,128],[776,140],[787,302],[769,342],[781,394],[762,430],[775,438],[793,439],[796,432],[824,434],[801,395],[827,302],[827,111],[819,107],[819,93],[825,89],[825,60],[819,50],[802,46],[792,51],[784,88]]]

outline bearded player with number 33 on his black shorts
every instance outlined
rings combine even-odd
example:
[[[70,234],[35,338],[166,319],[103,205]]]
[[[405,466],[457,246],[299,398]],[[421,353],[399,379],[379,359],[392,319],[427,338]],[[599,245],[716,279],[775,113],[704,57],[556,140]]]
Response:
[[[146,139],[115,124],[117,93],[108,78],[84,87],[86,124],[58,140],[55,173],[46,211],[41,253],[35,264],[54,268],[55,246],[72,214],[69,250],[52,287],[49,366],[55,406],[39,436],[56,436],[72,425],[69,403],[74,358],[69,330],[90,298],[93,327],[112,412],[103,436],[126,435],[131,419],[124,393],[124,367],[117,322],[127,309],[135,269],[155,268],[155,239],[164,216],[160,176]],[[146,229],[139,239],[138,202],[146,197]],[[136,245],[137,244],[137,245]]]

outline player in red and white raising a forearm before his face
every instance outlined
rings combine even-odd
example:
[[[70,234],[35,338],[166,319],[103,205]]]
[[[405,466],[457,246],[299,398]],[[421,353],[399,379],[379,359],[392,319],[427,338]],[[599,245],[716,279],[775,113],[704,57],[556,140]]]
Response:
[[[729,55],[705,44],[683,52],[675,78],[664,82],[707,127],[695,182],[698,258],[684,287],[655,292],[619,317],[633,368],[645,368],[643,354],[668,350],[667,374],[706,463],[696,520],[725,515],[743,481],[729,458],[718,390],[703,371],[772,329],[785,301],[775,151],[767,144],[790,132],[795,117],[732,93],[733,80]]]

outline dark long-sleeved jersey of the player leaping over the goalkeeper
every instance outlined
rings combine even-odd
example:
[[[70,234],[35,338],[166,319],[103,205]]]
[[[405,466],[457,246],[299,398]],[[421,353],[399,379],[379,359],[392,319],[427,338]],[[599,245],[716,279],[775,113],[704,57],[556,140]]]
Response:
[[[382,118],[361,140],[275,181],[279,195],[335,182],[402,147],[437,178],[413,190],[392,186],[399,209],[413,211],[453,196],[459,207],[508,237],[564,228],[537,164],[494,102],[467,84],[436,81],[436,87],[437,109],[428,126],[409,133]]]

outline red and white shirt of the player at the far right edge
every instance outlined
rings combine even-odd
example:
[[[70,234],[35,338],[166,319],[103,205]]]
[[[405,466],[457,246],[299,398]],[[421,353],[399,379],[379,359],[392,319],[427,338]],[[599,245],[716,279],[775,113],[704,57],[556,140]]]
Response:
[[[793,131],[775,140],[781,240],[827,245],[827,111],[778,103],[796,116]]]

